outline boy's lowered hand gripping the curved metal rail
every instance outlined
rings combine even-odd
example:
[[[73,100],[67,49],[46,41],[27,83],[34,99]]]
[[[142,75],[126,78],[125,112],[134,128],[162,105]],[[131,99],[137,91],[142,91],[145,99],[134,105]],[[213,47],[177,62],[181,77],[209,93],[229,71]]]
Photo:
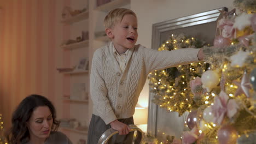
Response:
[[[119,122],[117,119],[115,119],[113,122],[110,122],[110,126],[112,129],[118,130],[119,135],[127,135],[131,130],[127,124]]]

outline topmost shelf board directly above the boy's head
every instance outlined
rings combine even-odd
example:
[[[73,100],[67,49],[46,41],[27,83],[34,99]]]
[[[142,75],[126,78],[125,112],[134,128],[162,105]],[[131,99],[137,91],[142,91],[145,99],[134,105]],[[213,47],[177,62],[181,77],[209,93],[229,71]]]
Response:
[[[105,12],[108,12],[114,8],[119,8],[123,5],[127,5],[127,4],[130,4],[131,3],[131,0],[113,0],[109,3],[106,3],[106,4],[102,4],[98,7],[95,8],[95,10],[101,10],[101,11],[105,11]]]

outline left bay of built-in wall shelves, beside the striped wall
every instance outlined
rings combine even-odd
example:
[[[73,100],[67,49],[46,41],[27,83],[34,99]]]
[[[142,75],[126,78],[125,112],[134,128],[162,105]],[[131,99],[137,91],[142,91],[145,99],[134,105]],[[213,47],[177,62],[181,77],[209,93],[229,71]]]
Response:
[[[70,5],[65,5],[64,7],[70,7],[74,10],[86,8],[87,10],[73,17],[69,17],[68,19],[62,19],[59,21],[62,23],[65,29],[67,29],[63,30],[63,38],[65,38],[63,40],[77,39],[77,37],[81,36],[82,31],[90,30],[89,2],[84,0],[71,0]],[[90,37],[87,40],[79,41],[77,43],[61,45],[60,49],[68,53],[67,56],[69,58],[69,61],[66,61],[68,64],[63,63],[63,65],[66,65],[65,67],[73,67],[73,65],[77,65],[78,67],[80,64],[83,65],[84,61],[81,61],[83,58],[90,57]],[[90,59],[88,59],[88,61],[90,62]],[[60,119],[75,119],[75,121],[79,122],[80,124],[87,124],[89,117],[89,100],[86,99],[86,97],[88,97],[87,91],[89,89],[89,70],[85,70],[86,67],[84,68],[83,66],[82,68],[78,68],[79,69],[75,69],[73,71],[61,73],[65,77],[65,87],[69,85],[69,88],[63,89],[64,95],[60,95],[62,107],[67,107],[67,110],[63,111]],[[80,91],[81,94],[79,94],[80,92],[78,91]],[[86,93],[83,95],[83,92]],[[70,95],[73,95],[73,97],[71,98]],[[82,110],[83,112],[80,113],[80,111],[77,110]],[[85,125],[85,127],[87,127],[87,125]],[[69,139],[71,139],[73,143],[77,143],[79,140],[87,140],[88,129],[78,130],[75,128],[62,126],[60,128],[63,133],[68,135]]]

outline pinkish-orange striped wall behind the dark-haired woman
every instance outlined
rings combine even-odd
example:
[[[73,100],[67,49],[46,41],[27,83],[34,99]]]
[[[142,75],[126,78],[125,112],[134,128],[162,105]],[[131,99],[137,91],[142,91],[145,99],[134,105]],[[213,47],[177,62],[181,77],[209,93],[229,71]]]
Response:
[[[69,26],[60,23],[63,5],[69,5],[69,0],[0,4],[0,113],[5,127],[10,126],[20,101],[33,93],[53,101],[61,116],[60,98],[63,88],[69,88],[69,78],[56,68],[70,63],[69,51],[60,48],[62,39],[70,35]]]

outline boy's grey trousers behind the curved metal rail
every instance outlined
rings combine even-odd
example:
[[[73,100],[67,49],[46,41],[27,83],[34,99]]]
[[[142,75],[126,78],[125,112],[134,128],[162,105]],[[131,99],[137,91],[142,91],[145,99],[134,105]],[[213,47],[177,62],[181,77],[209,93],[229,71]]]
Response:
[[[118,121],[125,123],[125,124],[134,124],[133,117],[118,119]],[[105,124],[105,122],[101,119],[101,117],[92,114],[91,122],[89,125],[88,130],[88,144],[97,144],[98,140],[100,139],[101,135],[108,130],[110,124]],[[118,135],[115,134],[111,137],[108,141],[109,144],[131,144],[133,139],[133,132],[130,132],[127,135]]]

